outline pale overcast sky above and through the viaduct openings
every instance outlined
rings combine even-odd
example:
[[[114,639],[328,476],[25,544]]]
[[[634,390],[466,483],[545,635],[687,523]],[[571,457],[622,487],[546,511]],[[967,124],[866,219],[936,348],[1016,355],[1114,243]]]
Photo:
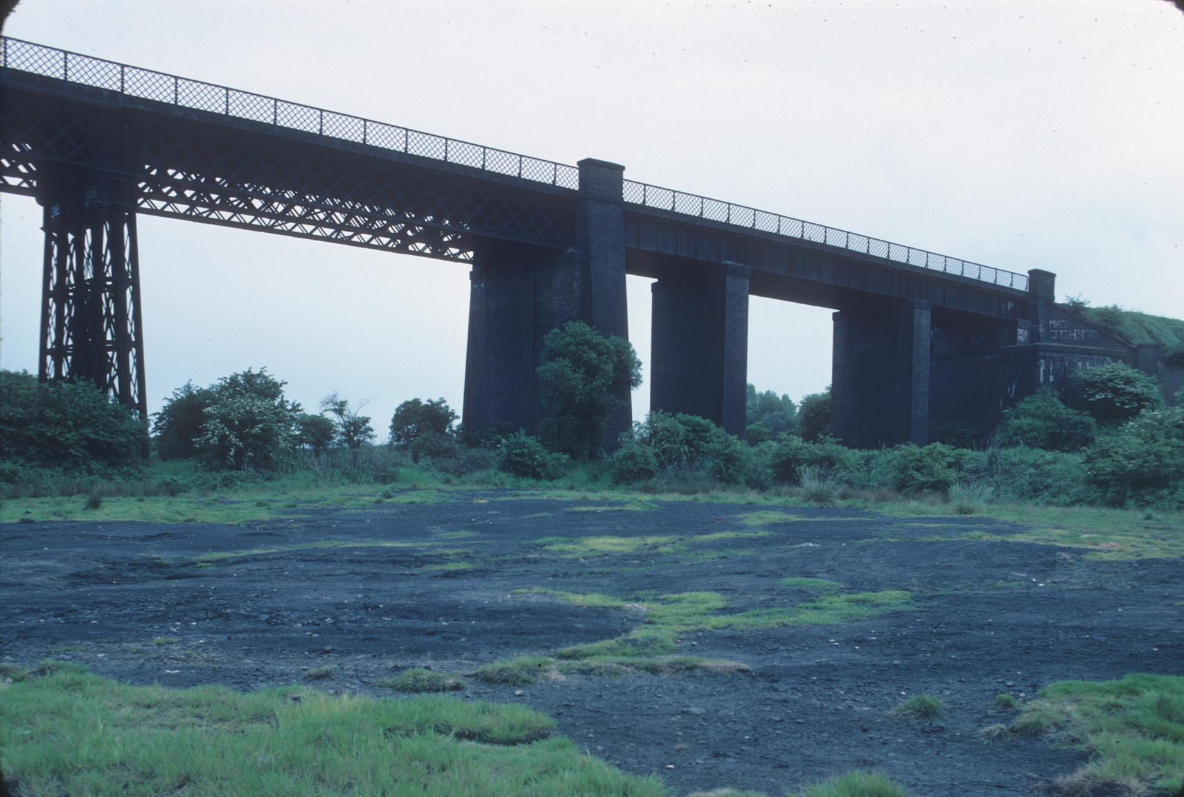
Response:
[[[1184,316],[1184,14],[1163,0],[22,0],[7,36],[625,175]],[[0,367],[37,371],[39,208],[0,195]],[[464,265],[142,217],[148,404],[266,366],[458,411]],[[649,359],[648,281],[630,338]],[[748,379],[830,383],[753,298]],[[648,386],[633,397],[649,406]]]

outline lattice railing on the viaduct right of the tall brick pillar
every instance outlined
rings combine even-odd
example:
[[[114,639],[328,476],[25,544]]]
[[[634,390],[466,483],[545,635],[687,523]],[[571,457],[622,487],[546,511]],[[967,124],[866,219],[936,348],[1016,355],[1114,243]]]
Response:
[[[829,246],[838,246],[854,252],[882,257],[894,263],[915,265],[941,274],[989,282],[1003,288],[1028,290],[1028,275],[1004,271],[980,263],[971,263],[957,257],[928,252],[914,246],[894,244],[879,238],[869,238],[847,230],[837,230],[812,221],[803,221],[780,213],[758,211],[754,207],[735,205],[719,199],[708,199],[673,188],[662,188],[645,182],[625,180],[624,200],[633,205],[656,207],[674,213],[683,213],[712,221],[734,224],[749,230],[772,232],[786,238],[799,238]]]

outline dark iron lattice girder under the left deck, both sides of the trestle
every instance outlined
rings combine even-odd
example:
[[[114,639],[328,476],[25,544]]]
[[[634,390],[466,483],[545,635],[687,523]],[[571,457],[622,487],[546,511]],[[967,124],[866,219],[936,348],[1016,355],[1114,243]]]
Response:
[[[13,105],[0,128],[5,191],[34,193],[38,168],[49,162],[97,165],[92,109],[9,86],[5,95]],[[559,249],[568,234],[571,199],[440,172],[414,158],[117,113],[120,143],[130,150],[124,176],[147,213],[455,261],[472,258],[476,238]]]

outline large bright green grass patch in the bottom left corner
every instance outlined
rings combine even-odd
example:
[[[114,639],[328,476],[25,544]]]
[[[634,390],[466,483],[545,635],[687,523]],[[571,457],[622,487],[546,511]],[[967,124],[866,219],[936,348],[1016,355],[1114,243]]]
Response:
[[[173,690],[77,671],[9,684],[0,701],[15,793],[667,797],[553,728],[522,706],[449,696]]]

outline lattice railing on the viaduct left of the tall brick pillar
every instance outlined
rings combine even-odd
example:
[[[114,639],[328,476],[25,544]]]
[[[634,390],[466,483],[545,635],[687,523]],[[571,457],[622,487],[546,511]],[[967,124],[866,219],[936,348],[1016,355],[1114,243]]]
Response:
[[[580,184],[579,169],[566,163],[92,58],[21,39],[0,37],[0,63],[7,69],[81,83],[129,97],[265,122],[329,139],[470,166],[530,182],[573,191]]]

